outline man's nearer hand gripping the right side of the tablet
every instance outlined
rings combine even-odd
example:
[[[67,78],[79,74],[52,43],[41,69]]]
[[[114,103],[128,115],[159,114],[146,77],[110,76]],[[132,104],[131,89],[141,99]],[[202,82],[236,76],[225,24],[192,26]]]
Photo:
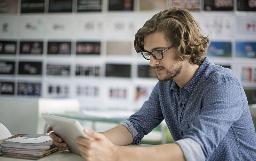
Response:
[[[77,148],[87,161],[115,161],[117,160],[118,146],[111,143],[108,138],[93,130],[84,129],[92,139],[76,138]]]

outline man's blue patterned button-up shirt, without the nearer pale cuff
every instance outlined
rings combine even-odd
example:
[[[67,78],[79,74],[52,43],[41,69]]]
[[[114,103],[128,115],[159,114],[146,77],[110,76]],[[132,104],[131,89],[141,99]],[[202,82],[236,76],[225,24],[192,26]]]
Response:
[[[175,141],[196,141],[205,160],[256,161],[256,134],[244,89],[230,69],[208,58],[184,87],[173,79],[158,82],[123,125],[138,144],[163,120]]]

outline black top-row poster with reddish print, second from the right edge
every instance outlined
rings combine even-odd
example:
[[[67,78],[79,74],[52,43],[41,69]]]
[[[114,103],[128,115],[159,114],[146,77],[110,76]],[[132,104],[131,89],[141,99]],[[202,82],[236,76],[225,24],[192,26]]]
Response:
[[[204,0],[205,11],[233,11],[234,0]]]

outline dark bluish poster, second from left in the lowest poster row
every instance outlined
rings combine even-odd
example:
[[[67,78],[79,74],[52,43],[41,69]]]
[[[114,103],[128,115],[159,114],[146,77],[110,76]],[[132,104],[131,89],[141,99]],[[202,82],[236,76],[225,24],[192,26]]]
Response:
[[[20,96],[40,96],[41,95],[41,83],[19,82],[17,93]]]

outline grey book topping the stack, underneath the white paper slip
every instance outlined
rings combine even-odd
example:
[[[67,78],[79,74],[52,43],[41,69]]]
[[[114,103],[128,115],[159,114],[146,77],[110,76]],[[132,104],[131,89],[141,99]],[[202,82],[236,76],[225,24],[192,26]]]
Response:
[[[16,135],[17,137],[24,137],[24,138],[38,138],[40,136],[49,136],[44,134],[28,134],[28,135]],[[15,138],[15,137],[13,137]],[[55,145],[52,144],[52,140],[46,141],[44,143],[17,143],[8,141],[9,139],[4,139],[3,142],[0,141],[0,146],[3,147],[9,147],[9,148],[25,148],[25,149],[51,149],[55,147]]]

